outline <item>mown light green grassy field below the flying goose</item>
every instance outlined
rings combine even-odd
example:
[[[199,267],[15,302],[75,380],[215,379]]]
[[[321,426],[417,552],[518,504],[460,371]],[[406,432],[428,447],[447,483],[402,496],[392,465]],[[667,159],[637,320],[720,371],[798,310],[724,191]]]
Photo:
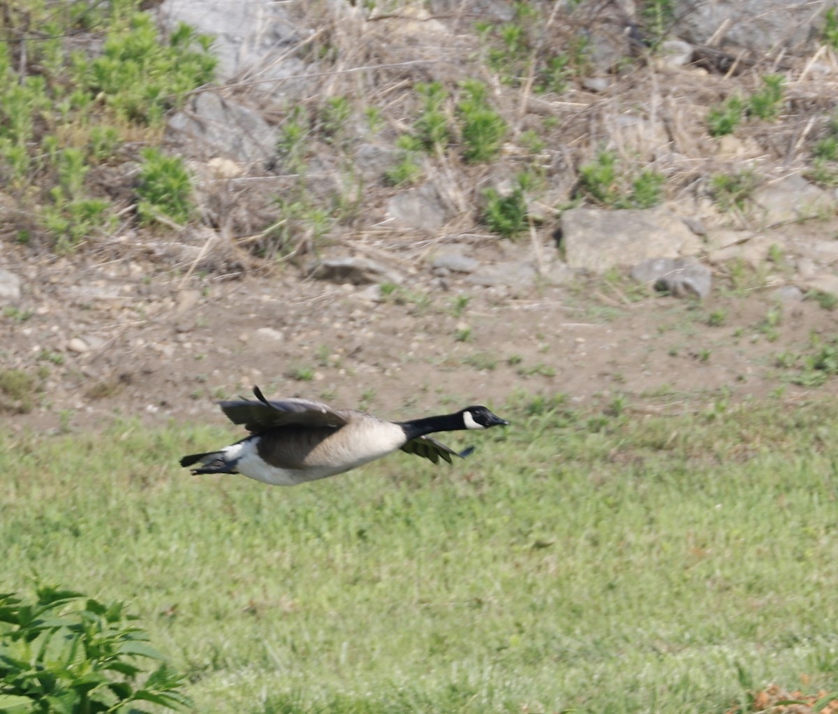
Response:
[[[193,477],[222,427],[0,437],[0,591],[129,601],[213,712],[679,712],[838,688],[838,408],[498,408],[456,467]]]

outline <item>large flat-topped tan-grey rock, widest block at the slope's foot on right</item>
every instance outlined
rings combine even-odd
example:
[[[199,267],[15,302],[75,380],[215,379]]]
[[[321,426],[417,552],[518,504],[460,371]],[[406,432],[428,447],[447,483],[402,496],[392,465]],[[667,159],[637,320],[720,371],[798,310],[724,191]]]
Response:
[[[566,210],[561,235],[567,265],[593,272],[701,251],[701,240],[684,221],[660,209]]]

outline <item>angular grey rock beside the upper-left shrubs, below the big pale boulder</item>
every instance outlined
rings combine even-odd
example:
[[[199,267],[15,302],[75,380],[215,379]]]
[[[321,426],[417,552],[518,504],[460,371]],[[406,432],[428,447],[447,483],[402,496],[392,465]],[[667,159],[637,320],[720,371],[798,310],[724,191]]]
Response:
[[[277,137],[260,114],[211,91],[200,92],[178,111],[167,131],[175,139],[198,143],[204,153],[245,163],[264,162],[276,153]]]

